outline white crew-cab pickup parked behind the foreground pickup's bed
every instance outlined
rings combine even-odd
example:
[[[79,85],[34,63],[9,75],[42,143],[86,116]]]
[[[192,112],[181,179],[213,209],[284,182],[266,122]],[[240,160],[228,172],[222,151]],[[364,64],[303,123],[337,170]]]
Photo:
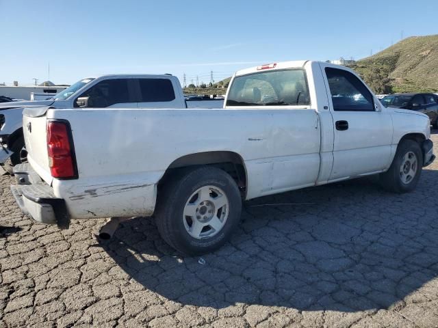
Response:
[[[79,101],[77,101],[78,95],[81,98]],[[189,105],[190,107],[201,106],[190,102]],[[216,104],[211,102],[209,105],[222,107],[221,102]],[[98,78],[86,78],[66,88],[50,100],[0,104],[0,166],[6,172],[12,173],[14,165],[27,161],[23,138],[23,109],[41,106],[60,109],[79,107],[181,109],[187,107],[178,79],[169,74],[105,75]]]

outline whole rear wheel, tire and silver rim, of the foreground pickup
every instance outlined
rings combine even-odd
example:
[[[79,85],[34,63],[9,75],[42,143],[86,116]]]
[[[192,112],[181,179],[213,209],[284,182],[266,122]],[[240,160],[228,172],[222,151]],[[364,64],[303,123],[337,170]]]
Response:
[[[240,221],[237,184],[222,169],[184,169],[158,195],[155,221],[162,238],[183,254],[198,255],[222,246]]]

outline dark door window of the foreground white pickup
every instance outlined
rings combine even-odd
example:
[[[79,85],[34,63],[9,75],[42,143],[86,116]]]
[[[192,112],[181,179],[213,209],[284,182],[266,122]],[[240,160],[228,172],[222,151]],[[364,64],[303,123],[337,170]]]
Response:
[[[335,111],[374,111],[371,92],[354,74],[329,67],[325,71]]]

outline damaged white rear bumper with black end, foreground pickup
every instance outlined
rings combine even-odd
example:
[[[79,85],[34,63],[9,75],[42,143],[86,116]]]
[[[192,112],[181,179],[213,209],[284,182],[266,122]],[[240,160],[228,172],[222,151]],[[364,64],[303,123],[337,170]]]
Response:
[[[40,223],[57,224],[61,229],[68,229],[70,216],[66,204],[55,196],[49,184],[42,181],[27,163],[16,165],[14,175],[17,184],[11,186],[11,191],[23,213]]]

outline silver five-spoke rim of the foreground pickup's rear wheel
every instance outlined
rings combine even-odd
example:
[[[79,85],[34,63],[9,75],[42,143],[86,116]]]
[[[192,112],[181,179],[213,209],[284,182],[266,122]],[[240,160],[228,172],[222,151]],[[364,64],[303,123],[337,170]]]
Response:
[[[201,187],[185,203],[185,231],[196,239],[215,236],[224,228],[228,213],[229,200],[222,189],[216,186]]]

